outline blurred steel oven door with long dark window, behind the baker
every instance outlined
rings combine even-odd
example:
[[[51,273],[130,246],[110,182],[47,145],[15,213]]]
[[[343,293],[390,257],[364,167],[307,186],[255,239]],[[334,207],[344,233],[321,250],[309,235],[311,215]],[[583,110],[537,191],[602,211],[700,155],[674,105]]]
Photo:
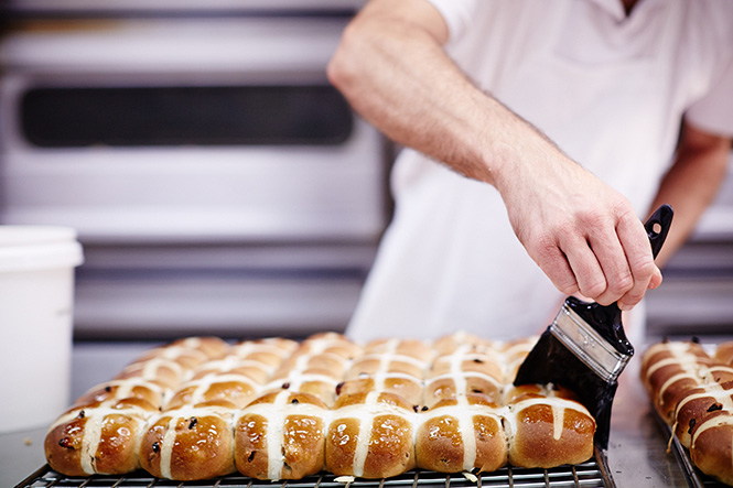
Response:
[[[345,19],[117,20],[1,46],[2,221],[87,242],[374,238],[379,134],[325,78]]]

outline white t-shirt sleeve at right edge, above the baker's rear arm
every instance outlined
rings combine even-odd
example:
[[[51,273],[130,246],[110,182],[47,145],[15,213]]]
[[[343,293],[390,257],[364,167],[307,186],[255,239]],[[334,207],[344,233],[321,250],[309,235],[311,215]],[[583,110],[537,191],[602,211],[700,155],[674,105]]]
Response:
[[[708,93],[688,108],[693,126],[721,135],[733,135],[733,57],[713,78]]]

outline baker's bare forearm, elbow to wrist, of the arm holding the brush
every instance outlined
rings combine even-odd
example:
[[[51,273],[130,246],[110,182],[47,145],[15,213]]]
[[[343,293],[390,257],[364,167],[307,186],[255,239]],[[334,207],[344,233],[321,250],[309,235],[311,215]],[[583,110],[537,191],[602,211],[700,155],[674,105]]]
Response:
[[[414,22],[409,2],[400,3],[367,4],[328,66],[332,83],[364,118],[400,144],[497,187],[517,183],[502,180],[521,173],[515,166],[536,170],[537,160],[560,153],[466,78],[441,47],[446,32]],[[403,6],[409,15],[395,12]]]

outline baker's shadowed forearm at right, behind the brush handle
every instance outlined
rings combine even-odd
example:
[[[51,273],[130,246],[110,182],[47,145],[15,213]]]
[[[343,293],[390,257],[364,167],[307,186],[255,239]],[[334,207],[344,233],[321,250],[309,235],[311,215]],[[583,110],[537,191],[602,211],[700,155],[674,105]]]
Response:
[[[665,203],[675,209],[675,221],[656,260],[659,267],[685,243],[715,198],[725,176],[730,151],[730,138],[685,126],[675,164],[665,175],[651,205],[651,210]]]

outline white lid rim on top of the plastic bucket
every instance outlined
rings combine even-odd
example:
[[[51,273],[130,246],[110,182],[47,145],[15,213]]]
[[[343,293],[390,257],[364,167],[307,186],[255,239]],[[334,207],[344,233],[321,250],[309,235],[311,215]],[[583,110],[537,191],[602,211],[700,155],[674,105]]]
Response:
[[[0,226],[0,272],[77,267],[76,230],[56,226]]]

